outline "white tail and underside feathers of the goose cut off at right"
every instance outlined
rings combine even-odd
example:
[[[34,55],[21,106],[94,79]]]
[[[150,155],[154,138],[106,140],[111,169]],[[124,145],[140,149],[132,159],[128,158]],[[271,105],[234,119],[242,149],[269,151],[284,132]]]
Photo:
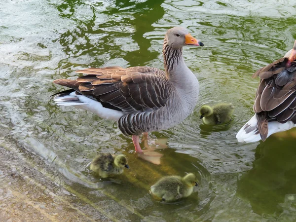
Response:
[[[286,123],[280,123],[278,121],[268,122],[268,135],[289,130],[296,127],[296,124],[292,121]],[[238,142],[252,143],[261,140],[258,127],[256,114],[238,131],[236,134]]]

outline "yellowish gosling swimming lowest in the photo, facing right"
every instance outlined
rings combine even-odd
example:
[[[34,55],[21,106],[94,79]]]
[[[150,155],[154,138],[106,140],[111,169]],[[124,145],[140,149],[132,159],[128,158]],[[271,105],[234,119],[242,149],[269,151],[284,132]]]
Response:
[[[192,173],[185,177],[167,176],[161,178],[150,188],[150,193],[162,201],[175,201],[187,197],[193,192],[193,186],[198,186],[196,176]]]

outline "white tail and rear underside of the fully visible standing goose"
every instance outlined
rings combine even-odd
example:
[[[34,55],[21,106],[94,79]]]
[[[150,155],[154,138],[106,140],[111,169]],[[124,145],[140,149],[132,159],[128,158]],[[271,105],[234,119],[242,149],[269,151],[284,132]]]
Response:
[[[104,119],[117,121],[123,115],[121,111],[105,108],[100,102],[83,95],[77,95],[76,92],[71,92],[68,95],[63,93],[57,95],[54,97],[54,101],[59,106],[75,106],[76,108],[93,112]]]

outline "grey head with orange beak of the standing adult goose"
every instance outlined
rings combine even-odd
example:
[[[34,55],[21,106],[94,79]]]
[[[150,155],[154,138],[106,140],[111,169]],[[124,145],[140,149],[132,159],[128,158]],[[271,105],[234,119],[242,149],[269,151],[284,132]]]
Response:
[[[185,45],[203,46],[201,41],[192,37],[183,27],[174,27],[165,34],[165,41],[172,48],[182,48]]]

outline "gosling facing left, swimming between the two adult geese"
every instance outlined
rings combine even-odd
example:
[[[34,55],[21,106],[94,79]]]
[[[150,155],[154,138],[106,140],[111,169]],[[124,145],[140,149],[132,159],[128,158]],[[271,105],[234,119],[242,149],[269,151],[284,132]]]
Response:
[[[234,106],[231,103],[219,103],[213,108],[208,105],[203,105],[200,109],[200,118],[205,124],[219,125],[229,122],[234,111]]]

